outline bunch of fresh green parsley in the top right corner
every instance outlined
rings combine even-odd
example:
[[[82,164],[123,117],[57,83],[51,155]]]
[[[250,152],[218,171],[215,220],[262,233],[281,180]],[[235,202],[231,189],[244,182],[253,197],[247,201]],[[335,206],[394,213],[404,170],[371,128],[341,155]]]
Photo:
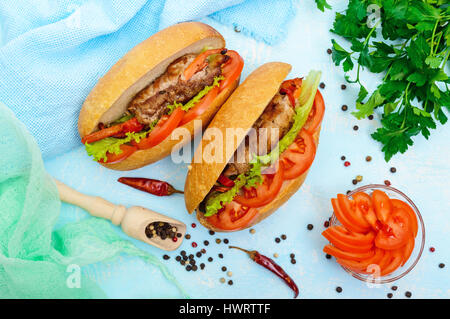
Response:
[[[378,20],[370,15],[377,8]],[[380,30],[383,41],[377,41]],[[347,51],[332,40],[334,63],[342,64],[344,72],[357,65],[356,78],[345,76],[360,86],[352,114],[362,119],[383,107],[382,127],[372,137],[383,144],[386,161],[413,145],[413,136],[421,133],[428,139],[436,121],[447,122],[448,0],[350,0],[344,13],[336,13],[331,31],[350,44]],[[362,68],[384,74],[370,94],[360,80]]]

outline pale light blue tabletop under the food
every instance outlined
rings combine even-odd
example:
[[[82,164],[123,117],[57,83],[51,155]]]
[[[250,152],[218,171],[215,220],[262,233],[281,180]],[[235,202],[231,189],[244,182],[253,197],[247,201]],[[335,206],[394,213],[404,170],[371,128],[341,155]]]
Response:
[[[334,2],[334,10],[344,8],[345,1]],[[214,241],[216,238],[227,238],[231,244],[257,249],[270,257],[278,253],[276,261],[297,282],[301,298],[386,298],[386,294],[391,292],[391,285],[370,288],[349,276],[334,260],[325,259],[322,252],[326,240],[320,233],[324,229],[324,221],[332,212],[330,198],[352,189],[352,179],[356,175],[362,175],[363,182],[359,186],[390,180],[392,186],[402,190],[416,203],[425,221],[425,251],[415,269],[395,283],[399,288],[394,292],[394,298],[404,298],[407,290],[413,293],[413,298],[449,298],[450,130],[448,127],[438,127],[432,132],[429,141],[422,137],[416,138],[412,150],[386,163],[380,145],[369,136],[377,127],[378,121],[358,121],[349,111],[341,111],[343,104],[349,105],[350,109],[354,107],[358,89],[347,84],[347,89],[341,90],[341,84],[345,83],[343,73],[333,65],[331,57],[326,53],[326,49],[330,47],[332,35],[328,30],[334,13],[328,11],[322,14],[312,3],[309,1],[308,4],[299,5],[299,13],[290,26],[288,37],[275,47],[257,43],[211,20],[204,20],[224,35],[228,48],[239,50],[245,58],[244,76],[258,65],[269,61],[292,64],[292,77],[304,76],[310,69],[322,70],[323,82],[326,84],[322,90],[326,113],[315,162],[306,182],[287,204],[255,226],[256,233],[253,235],[246,230],[210,236],[198,223],[195,229],[189,226],[188,232],[192,239],[185,240],[181,249],[197,252],[204,247],[203,240],[207,239],[210,242],[205,247],[207,257],[212,256],[214,262],[208,263],[207,257],[202,257],[198,262],[206,263],[204,271],[186,272],[174,260],[176,252],[173,252],[169,253],[172,258],[165,264],[194,298],[292,297],[292,292],[281,280],[251,262],[245,254],[231,251],[223,243],[216,244]],[[368,84],[374,79],[364,77]],[[359,126],[358,131],[353,130],[354,125]],[[340,160],[342,155],[347,157],[351,166],[343,166]],[[367,155],[372,156],[371,162],[365,161]],[[139,176],[167,180],[182,188],[187,166],[175,165],[170,158],[136,171],[120,173],[94,163],[80,147],[47,160],[45,165],[53,176],[88,194],[101,195],[115,203],[142,205],[180,219],[187,225],[196,222],[195,217],[186,212],[182,196],[157,198],[116,182],[120,176]],[[397,173],[389,172],[391,166],[397,168]],[[64,204],[58,226],[82,218],[87,218],[86,212]],[[314,229],[308,231],[307,224],[313,224]],[[275,243],[274,238],[281,234],[286,234],[287,240]],[[190,246],[192,241],[199,244],[197,249]],[[162,257],[164,254],[157,248],[134,242],[154,255]],[[436,248],[434,253],[428,251],[430,246]],[[218,253],[223,253],[224,258],[219,259]],[[295,265],[290,263],[290,253],[296,255]],[[447,264],[443,269],[438,267],[441,262]],[[232,271],[231,278],[221,271],[222,266]],[[84,271],[95,278],[110,297],[179,296],[158,270],[138,259],[123,256],[117,262],[93,265]],[[220,277],[232,279],[234,284],[222,284],[219,282]],[[336,293],[337,286],[343,288],[341,294]],[[149,287],[153,291],[151,295],[148,294]]]

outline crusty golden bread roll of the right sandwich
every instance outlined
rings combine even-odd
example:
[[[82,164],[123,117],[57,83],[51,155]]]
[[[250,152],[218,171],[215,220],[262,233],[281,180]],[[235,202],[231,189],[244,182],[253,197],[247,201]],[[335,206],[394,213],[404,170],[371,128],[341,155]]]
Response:
[[[273,62],[264,64],[245,79],[225,102],[219,112],[217,112],[207,130],[214,127],[219,128],[222,131],[222,144],[224,145],[223,154],[225,154],[226,147],[226,128],[234,127],[250,129],[274,95],[279,91],[281,84],[290,70],[291,66],[286,63]],[[319,132],[320,129],[317,130],[313,136],[316,146],[319,140]],[[245,134],[239,136],[237,145],[243,141],[244,137]],[[209,143],[210,141],[205,141],[203,139],[202,148],[199,147],[194,156],[201,158],[201,155],[197,153],[204,150]],[[189,213],[192,213],[199,206],[212,189],[233,154],[234,151],[231,152],[231,154],[227,154],[224,157],[224,162],[221,163],[193,162],[191,164],[184,189],[186,208]],[[284,181],[277,197],[268,205],[259,207],[258,215],[245,228],[259,223],[285,203],[303,184],[308,171],[296,179]],[[217,229],[208,223],[207,218],[205,218],[203,213],[198,210],[197,219],[208,229],[216,232],[225,232],[225,230]]]

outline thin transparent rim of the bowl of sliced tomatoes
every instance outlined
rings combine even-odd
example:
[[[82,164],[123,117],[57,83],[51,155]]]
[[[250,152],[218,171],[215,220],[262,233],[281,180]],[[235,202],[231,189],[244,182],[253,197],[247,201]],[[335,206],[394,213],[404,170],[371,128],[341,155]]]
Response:
[[[418,220],[419,220],[419,223],[420,223],[420,227],[421,227],[421,230],[422,230],[422,238],[421,238],[421,245],[420,245],[419,253],[418,253],[416,259],[414,260],[414,262],[405,271],[403,271],[402,273],[398,274],[397,276],[391,277],[391,278],[373,277],[372,275],[364,276],[363,274],[359,274],[357,272],[354,272],[351,269],[348,269],[348,268],[346,268],[346,267],[344,267],[342,265],[340,265],[340,266],[346,272],[348,272],[350,275],[352,275],[352,277],[354,277],[356,279],[359,279],[361,281],[368,282],[368,283],[373,283],[373,284],[391,283],[391,282],[394,282],[394,281],[404,277],[405,275],[407,275],[411,270],[413,270],[413,268],[419,262],[420,257],[422,256],[422,253],[423,253],[423,249],[425,247],[425,224],[423,222],[422,215],[420,214],[420,211],[417,208],[417,206],[414,204],[414,202],[406,194],[404,194],[402,191],[400,191],[397,188],[394,188],[392,186],[387,186],[387,185],[383,185],[383,184],[368,184],[368,185],[361,186],[361,187],[358,187],[358,188],[350,191],[347,194],[347,197],[351,197],[353,194],[361,192],[361,191],[362,192],[366,192],[366,190],[368,190],[368,189],[383,189],[383,190],[392,191],[392,192],[397,193],[398,195],[400,195],[411,206],[411,208],[414,210],[416,216],[418,217]],[[335,213],[333,212],[333,215],[331,216],[330,225],[335,224],[336,221],[338,221],[338,220],[337,220],[337,217],[336,217]],[[417,240],[417,238],[415,238],[415,240]]]

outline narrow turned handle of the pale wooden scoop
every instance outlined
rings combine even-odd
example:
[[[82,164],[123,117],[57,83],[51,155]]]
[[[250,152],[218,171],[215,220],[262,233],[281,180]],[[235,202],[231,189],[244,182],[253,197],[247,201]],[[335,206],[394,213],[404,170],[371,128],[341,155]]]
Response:
[[[115,225],[122,222],[127,210],[125,206],[114,205],[98,196],[82,194],[55,178],[53,180],[58,187],[59,197],[63,202],[81,207],[92,216],[108,219]]]

